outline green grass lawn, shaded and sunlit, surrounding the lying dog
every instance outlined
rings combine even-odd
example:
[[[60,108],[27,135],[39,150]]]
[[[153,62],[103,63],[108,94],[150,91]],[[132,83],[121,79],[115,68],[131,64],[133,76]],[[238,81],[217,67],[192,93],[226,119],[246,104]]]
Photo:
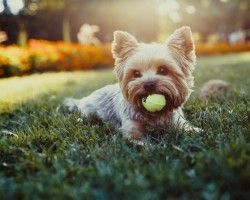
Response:
[[[250,199],[249,53],[198,60],[184,112],[204,132],[162,130],[145,147],[58,107],[114,83],[111,71],[35,75],[19,80],[33,89],[0,91],[0,199]],[[229,91],[199,100],[212,78]]]

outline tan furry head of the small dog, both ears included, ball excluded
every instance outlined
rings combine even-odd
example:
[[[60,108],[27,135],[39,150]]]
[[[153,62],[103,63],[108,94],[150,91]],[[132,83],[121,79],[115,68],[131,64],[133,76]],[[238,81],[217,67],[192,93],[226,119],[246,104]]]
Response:
[[[138,43],[129,33],[116,31],[112,53],[124,98],[136,110],[147,112],[142,98],[149,94],[165,95],[164,110],[180,107],[190,96],[196,57],[189,27],[177,29],[163,44]]]

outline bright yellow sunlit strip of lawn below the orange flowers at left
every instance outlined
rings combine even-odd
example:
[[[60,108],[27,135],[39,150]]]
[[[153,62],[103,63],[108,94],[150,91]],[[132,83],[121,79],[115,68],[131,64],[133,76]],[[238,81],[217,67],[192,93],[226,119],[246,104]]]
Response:
[[[100,72],[44,73],[0,79],[0,114],[6,110],[12,111],[20,104],[41,95],[51,94],[53,98],[52,94],[64,91],[68,85],[81,85],[83,80],[95,80],[98,73]]]

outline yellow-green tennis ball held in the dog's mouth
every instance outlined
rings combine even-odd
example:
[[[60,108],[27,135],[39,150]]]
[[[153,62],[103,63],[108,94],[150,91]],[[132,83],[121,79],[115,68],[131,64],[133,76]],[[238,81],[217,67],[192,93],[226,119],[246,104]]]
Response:
[[[149,112],[156,112],[163,109],[166,105],[166,99],[161,94],[150,94],[142,98],[142,105]]]

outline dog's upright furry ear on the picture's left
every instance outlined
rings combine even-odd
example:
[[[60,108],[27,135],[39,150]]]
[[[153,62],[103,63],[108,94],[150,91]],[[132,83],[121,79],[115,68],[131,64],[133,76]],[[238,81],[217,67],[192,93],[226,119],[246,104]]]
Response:
[[[133,35],[128,32],[115,31],[112,43],[113,58],[126,59],[137,45],[138,42]]]

